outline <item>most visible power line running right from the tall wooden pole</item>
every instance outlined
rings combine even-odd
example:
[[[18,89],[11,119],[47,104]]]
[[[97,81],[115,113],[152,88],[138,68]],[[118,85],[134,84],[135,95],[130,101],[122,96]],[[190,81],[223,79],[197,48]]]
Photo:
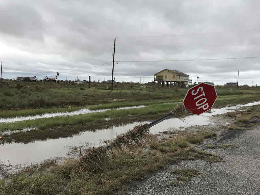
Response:
[[[204,60],[236,60],[236,59],[250,59],[250,58],[260,58],[260,56],[190,59],[190,60],[129,60],[129,61],[117,61],[117,62],[182,62],[182,61],[204,61]]]

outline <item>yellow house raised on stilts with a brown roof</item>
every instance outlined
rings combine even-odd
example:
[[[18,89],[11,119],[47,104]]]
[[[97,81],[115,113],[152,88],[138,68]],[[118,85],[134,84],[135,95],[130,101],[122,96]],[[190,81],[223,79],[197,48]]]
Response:
[[[165,85],[166,87],[170,87],[173,85],[184,86],[188,83],[192,83],[192,80],[189,79],[189,75],[186,75],[179,70],[170,69],[164,69],[154,74],[154,81],[162,83],[162,85]]]

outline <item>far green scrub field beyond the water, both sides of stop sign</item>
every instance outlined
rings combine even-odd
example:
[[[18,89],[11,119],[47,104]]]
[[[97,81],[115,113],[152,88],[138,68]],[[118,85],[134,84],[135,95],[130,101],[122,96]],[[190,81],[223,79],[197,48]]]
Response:
[[[125,90],[125,87],[128,90]],[[71,83],[49,82],[23,82],[9,81],[1,86],[0,90],[0,117],[25,116],[31,114],[43,114],[44,110],[32,109],[90,106],[90,109],[107,109],[122,106],[151,105],[156,103],[168,103],[182,101],[187,89],[183,88],[155,88],[153,84],[115,84],[114,90],[107,90],[106,83],[88,83],[82,85]],[[84,90],[81,90],[84,88]],[[259,95],[260,88],[241,88],[234,90],[216,86],[218,96],[229,96],[222,99],[220,104],[243,103],[242,99],[252,98]],[[109,88],[110,89],[110,85]],[[237,101],[237,97],[240,100]],[[102,105],[101,105],[102,104]],[[218,103],[217,103],[218,104]],[[65,111],[63,110],[63,111]],[[8,112],[6,112],[8,111]],[[10,112],[9,112],[10,111]],[[15,112],[18,111],[18,112]],[[70,111],[67,109],[66,111]]]

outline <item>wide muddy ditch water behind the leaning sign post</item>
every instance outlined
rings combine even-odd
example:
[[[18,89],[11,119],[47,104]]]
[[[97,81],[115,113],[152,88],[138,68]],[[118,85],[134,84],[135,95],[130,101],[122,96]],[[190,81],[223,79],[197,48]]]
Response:
[[[212,112],[203,113],[200,116],[192,115],[185,118],[185,122],[177,119],[171,118],[158,123],[157,125],[151,127],[151,132],[156,133],[159,131],[164,131],[171,127],[189,127],[190,125],[210,125],[215,124],[209,120],[209,116],[215,114],[224,114],[227,112],[233,112],[232,109],[238,109],[240,107],[251,106],[260,104],[260,101],[247,103],[244,105],[235,105],[224,107],[220,109],[212,109]],[[216,121],[218,123],[218,121]],[[221,121],[219,121],[221,122]],[[145,123],[145,122],[143,122]],[[68,146],[80,146],[86,143],[92,144],[92,146],[98,146],[100,140],[111,140],[115,138],[118,134],[123,133],[129,129],[132,129],[135,125],[140,123],[131,123],[121,127],[113,127],[111,129],[103,129],[96,132],[86,131],[79,135],[75,135],[70,138],[59,138],[50,139],[46,141],[35,141],[29,144],[22,143],[12,143],[4,144],[0,146],[1,156],[0,161],[4,164],[31,164],[38,163],[47,158],[54,157],[66,157],[68,152]]]

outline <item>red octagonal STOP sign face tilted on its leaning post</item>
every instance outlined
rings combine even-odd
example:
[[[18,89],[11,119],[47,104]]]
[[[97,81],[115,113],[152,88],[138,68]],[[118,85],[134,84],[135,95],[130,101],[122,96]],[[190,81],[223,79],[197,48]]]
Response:
[[[187,91],[183,105],[192,114],[202,114],[212,108],[217,97],[215,86],[200,83]]]

